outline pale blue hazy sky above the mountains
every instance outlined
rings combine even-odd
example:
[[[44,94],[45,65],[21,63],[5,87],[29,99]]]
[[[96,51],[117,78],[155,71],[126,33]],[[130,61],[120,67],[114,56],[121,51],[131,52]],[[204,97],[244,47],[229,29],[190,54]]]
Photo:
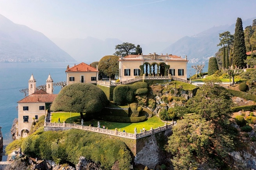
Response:
[[[0,14],[48,38],[175,42],[237,17],[256,17],[255,0],[0,0]]]

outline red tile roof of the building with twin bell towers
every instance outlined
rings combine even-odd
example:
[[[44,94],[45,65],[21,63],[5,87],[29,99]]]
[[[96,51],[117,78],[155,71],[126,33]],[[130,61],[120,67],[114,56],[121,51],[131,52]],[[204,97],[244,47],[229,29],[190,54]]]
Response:
[[[44,103],[52,103],[53,100],[57,97],[57,94],[48,94],[44,90],[39,90],[23,99],[21,99],[18,103],[39,103],[39,102],[44,102]]]

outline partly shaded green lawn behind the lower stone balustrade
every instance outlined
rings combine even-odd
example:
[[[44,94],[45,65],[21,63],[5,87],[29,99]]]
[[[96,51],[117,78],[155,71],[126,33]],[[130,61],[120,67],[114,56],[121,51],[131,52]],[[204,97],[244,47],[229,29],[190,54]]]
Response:
[[[60,117],[60,122],[63,123],[66,120],[66,123],[69,123],[70,119],[70,112],[57,112],[52,113],[52,120],[51,122],[58,122]],[[80,122],[80,114],[79,113],[71,113],[71,123],[78,123]],[[84,121],[85,126],[89,126],[89,124],[93,123],[93,126],[96,127],[98,120],[92,119],[90,121]],[[171,123],[171,122],[170,122]],[[169,123],[168,123],[169,124]],[[151,127],[157,128],[158,126],[164,126],[164,122],[161,121],[159,117],[153,116],[148,118],[146,121],[139,122],[139,123],[116,123],[116,122],[108,122],[108,121],[100,121],[101,127],[105,125],[106,128],[109,130],[115,130],[115,128],[121,129],[121,131],[125,130],[127,133],[134,133],[134,128],[137,128],[137,133],[140,133],[140,128],[143,127],[146,130],[150,130]]]

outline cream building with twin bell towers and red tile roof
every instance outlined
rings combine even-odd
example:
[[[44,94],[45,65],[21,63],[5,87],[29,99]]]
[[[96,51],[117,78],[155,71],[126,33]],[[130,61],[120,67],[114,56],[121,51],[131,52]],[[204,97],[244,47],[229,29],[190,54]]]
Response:
[[[53,94],[53,80],[50,74],[46,80],[46,91],[36,91],[36,79],[31,75],[28,80],[28,96],[18,102],[18,138],[25,137],[32,123],[46,115],[46,110],[50,112],[50,106],[56,96],[57,94]]]

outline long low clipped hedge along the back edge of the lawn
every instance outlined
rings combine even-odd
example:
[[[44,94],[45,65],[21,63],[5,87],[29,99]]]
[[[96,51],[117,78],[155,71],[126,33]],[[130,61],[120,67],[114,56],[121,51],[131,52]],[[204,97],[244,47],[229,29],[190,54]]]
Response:
[[[137,123],[147,119],[146,116],[124,117],[124,116],[109,116],[109,115],[99,116],[97,118],[104,121],[112,121],[112,122],[119,122],[119,123]]]

